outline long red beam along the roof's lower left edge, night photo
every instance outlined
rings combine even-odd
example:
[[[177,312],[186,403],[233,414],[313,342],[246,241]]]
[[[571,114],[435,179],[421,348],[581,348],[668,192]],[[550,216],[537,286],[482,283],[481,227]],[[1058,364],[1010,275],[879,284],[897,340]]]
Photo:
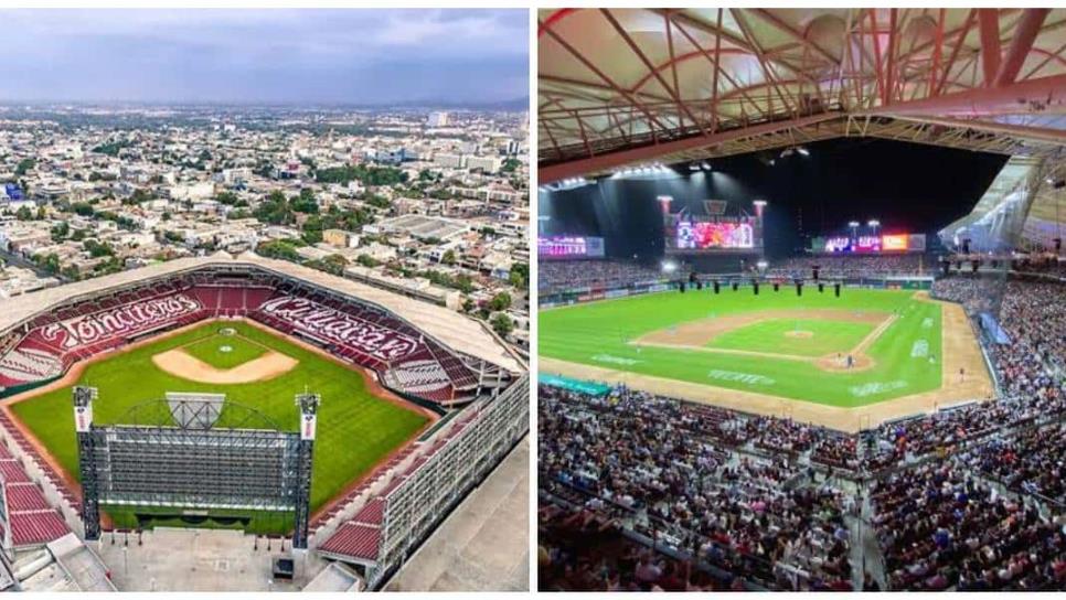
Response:
[[[740,138],[772,133],[775,131],[781,131],[793,127],[807,127],[809,125],[816,125],[839,118],[841,118],[839,113],[816,115],[812,117],[768,122],[753,127],[739,127],[728,131],[718,131],[710,136],[693,136],[682,140],[660,142],[643,146],[641,148],[631,148],[628,150],[618,150],[615,152],[599,154],[594,158],[541,167],[536,171],[537,182],[541,184],[551,183],[561,179],[576,178],[589,173],[607,171],[623,164],[647,162],[658,157],[672,154],[674,152],[684,152],[687,150],[695,150],[697,148],[717,146],[719,143],[725,143]]]

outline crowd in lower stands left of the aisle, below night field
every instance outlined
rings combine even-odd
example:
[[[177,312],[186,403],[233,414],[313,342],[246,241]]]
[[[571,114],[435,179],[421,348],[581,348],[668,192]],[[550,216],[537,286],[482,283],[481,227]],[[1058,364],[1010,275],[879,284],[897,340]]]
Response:
[[[715,443],[705,417],[640,393],[542,388],[541,486],[621,508],[633,532],[759,586],[850,589],[845,495],[788,456]]]

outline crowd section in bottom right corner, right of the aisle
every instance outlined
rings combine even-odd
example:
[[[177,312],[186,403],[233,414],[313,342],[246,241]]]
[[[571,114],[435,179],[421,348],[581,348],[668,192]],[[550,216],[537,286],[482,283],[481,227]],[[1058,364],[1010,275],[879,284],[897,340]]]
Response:
[[[996,493],[955,460],[877,481],[870,501],[889,589],[1051,591],[1066,583],[1062,517]]]

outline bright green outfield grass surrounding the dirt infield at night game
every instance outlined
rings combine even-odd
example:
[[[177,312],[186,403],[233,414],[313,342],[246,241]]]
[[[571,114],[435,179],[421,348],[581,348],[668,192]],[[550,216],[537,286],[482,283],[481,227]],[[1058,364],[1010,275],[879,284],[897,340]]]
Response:
[[[745,287],[738,291],[726,289],[717,296],[706,291],[670,291],[548,309],[539,315],[540,354],[607,369],[841,407],[864,406],[940,387],[940,307],[913,299],[913,291],[845,288],[840,298],[810,289],[802,297],[797,297],[790,289],[775,293],[764,287],[761,291],[759,296]],[[870,346],[867,354],[876,364],[853,373],[830,373],[808,362],[788,358],[697,349],[638,347],[629,343],[643,334],[712,315],[781,309],[898,311],[900,317]],[[850,323],[827,322],[825,326],[832,329],[844,324]],[[753,345],[736,347],[802,352],[802,344],[796,344],[798,340],[783,339],[781,329],[770,328],[765,333],[766,338],[757,336]],[[747,332],[738,331],[737,334],[746,335]],[[853,335],[850,339],[854,339]],[[861,334],[859,339],[862,339]],[[818,354],[825,354],[821,350]],[[930,357],[936,357],[936,362],[930,362]]]

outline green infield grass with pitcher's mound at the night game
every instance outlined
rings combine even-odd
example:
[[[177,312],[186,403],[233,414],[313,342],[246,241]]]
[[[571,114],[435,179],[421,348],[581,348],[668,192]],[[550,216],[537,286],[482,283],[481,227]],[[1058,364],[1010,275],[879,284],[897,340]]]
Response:
[[[767,319],[715,335],[707,347],[824,356],[852,350],[875,326],[822,319]],[[788,333],[792,331],[806,331],[812,335],[789,338]]]

